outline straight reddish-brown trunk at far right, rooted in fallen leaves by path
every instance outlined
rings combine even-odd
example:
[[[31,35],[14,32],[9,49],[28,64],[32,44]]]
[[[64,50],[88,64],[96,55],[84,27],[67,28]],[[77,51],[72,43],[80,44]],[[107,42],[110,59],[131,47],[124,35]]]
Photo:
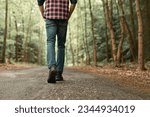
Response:
[[[136,2],[136,14],[138,20],[138,64],[140,70],[145,70],[144,67],[144,51],[143,51],[143,21],[142,14],[140,10],[140,1],[135,0]]]

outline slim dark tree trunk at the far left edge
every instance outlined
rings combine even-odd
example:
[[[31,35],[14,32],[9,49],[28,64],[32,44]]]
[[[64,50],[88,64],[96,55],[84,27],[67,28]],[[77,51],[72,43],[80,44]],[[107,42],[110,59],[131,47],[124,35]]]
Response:
[[[7,39],[7,20],[8,20],[8,0],[5,0],[5,30],[4,30],[4,42],[2,52],[2,62],[5,63],[6,59],[6,39]]]

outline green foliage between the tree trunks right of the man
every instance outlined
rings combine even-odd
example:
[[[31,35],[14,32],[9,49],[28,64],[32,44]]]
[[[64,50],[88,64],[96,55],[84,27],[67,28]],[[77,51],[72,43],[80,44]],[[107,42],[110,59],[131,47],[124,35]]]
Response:
[[[106,62],[106,58],[108,57],[109,61],[111,62],[112,59],[112,50],[111,50],[111,39],[109,30],[107,29],[105,18],[104,18],[104,11],[103,11],[103,4],[100,0],[94,0],[91,1],[92,6],[92,13],[93,13],[93,22],[94,22],[94,36],[96,37],[96,43],[97,43],[97,62]],[[85,8],[86,6],[86,8]],[[130,19],[130,5],[129,1],[125,1],[124,4],[124,10],[125,10],[125,18],[129,25],[129,28],[131,30],[131,19]],[[133,4],[133,8],[134,8]],[[115,33],[115,41],[116,41],[116,47],[118,47],[120,37],[121,37],[121,28],[120,28],[120,16],[118,11],[118,5],[117,1],[112,0],[112,23],[113,23],[113,29]],[[134,15],[135,15],[135,8],[134,8]],[[86,16],[86,17],[85,17]],[[135,21],[135,29],[137,29],[137,23],[136,19]],[[86,26],[85,26],[86,24]],[[71,29],[70,32],[72,33],[71,43],[73,46],[73,52],[74,52],[74,58],[76,64],[78,64],[78,61],[81,61],[82,63],[86,64],[86,47],[85,41],[87,39],[87,46],[89,49],[90,54],[90,61],[92,61],[93,57],[93,37],[92,37],[92,30],[91,30],[91,18],[90,18],[90,12],[89,12],[89,3],[87,0],[78,1],[77,8],[75,9],[75,12],[70,19],[70,25]],[[85,32],[86,30],[86,32]],[[106,31],[108,33],[108,52],[106,50]],[[86,33],[86,34],[85,34]],[[68,34],[69,35],[69,34]],[[87,35],[87,37],[85,36]],[[68,36],[69,40],[69,36]],[[77,42],[78,40],[78,42]],[[136,39],[135,39],[136,40]],[[70,42],[67,42],[67,48],[70,48]],[[123,47],[122,47],[122,54],[123,58],[125,60],[129,60],[131,58],[131,53],[129,49],[129,36],[126,33]],[[67,56],[69,56],[69,59],[72,59],[72,54],[70,49],[67,49]],[[70,63],[72,60],[69,61]],[[80,62],[80,63],[81,63]]]

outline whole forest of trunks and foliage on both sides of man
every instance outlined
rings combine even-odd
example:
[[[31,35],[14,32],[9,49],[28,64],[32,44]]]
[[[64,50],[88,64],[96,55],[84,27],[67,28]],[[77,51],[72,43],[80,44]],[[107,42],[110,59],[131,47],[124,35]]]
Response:
[[[68,66],[150,62],[149,0],[78,0],[69,20]],[[0,63],[46,64],[45,22],[36,0],[0,0]]]

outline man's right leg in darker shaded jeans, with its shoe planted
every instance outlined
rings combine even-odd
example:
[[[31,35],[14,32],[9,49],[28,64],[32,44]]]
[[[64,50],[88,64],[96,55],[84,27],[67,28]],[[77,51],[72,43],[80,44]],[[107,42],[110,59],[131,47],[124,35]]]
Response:
[[[59,20],[58,21],[58,51],[57,51],[57,63],[56,63],[56,80],[63,80],[62,73],[64,69],[64,61],[65,61],[65,42],[66,42],[66,34],[67,34],[67,20]],[[61,78],[61,79],[60,79]]]

